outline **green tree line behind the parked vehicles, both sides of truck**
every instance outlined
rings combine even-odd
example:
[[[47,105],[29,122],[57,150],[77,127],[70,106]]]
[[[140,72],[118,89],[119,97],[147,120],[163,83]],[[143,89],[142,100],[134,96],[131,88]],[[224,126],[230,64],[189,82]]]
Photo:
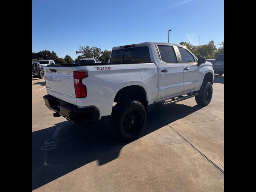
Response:
[[[214,40],[209,41],[207,44],[194,46],[188,42],[180,42],[181,45],[186,46],[197,58],[205,57],[207,59],[214,59],[217,54],[224,54],[224,40],[219,44],[220,47],[217,49],[214,45]],[[111,51],[104,50],[101,51],[98,47],[80,46],[76,55],[78,57],[73,60],[69,55],[64,58],[59,58],[56,52],[49,50],[43,50],[40,52],[32,52],[32,59],[44,60],[52,59],[55,63],[59,64],[71,64],[73,62],[77,63],[79,59],[82,58],[98,58],[101,62],[108,62],[110,58]]]

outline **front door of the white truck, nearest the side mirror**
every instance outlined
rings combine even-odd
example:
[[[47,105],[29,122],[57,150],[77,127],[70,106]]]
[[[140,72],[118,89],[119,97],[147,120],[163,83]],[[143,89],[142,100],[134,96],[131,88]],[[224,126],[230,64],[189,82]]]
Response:
[[[180,57],[180,64],[183,66],[183,92],[188,92],[200,88],[202,74],[198,67],[196,58],[185,48],[176,46]]]

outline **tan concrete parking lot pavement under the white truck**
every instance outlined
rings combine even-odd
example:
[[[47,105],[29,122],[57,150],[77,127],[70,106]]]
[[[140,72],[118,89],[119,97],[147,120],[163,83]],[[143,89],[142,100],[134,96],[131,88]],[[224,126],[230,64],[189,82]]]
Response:
[[[142,135],[125,144],[112,141],[108,119],[54,118],[43,82],[32,82],[32,190],[224,191],[224,75],[206,107],[149,106]]]

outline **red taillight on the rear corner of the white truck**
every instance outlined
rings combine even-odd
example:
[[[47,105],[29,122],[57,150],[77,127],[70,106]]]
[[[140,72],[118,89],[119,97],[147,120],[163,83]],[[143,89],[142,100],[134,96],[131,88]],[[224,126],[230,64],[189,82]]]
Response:
[[[87,71],[74,71],[76,98],[84,98],[87,96],[86,86],[82,84],[82,79],[86,77],[88,77]]]

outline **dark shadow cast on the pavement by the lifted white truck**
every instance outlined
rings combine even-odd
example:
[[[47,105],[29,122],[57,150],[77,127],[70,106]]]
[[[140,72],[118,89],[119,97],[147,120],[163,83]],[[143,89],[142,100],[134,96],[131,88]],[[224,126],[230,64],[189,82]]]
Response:
[[[183,104],[149,106],[146,126],[139,138],[201,108]],[[159,118],[162,116],[165,120]],[[128,143],[115,142],[109,129],[108,119],[102,119],[88,124],[64,121],[32,132],[32,190],[95,160],[100,166],[118,158]]]

